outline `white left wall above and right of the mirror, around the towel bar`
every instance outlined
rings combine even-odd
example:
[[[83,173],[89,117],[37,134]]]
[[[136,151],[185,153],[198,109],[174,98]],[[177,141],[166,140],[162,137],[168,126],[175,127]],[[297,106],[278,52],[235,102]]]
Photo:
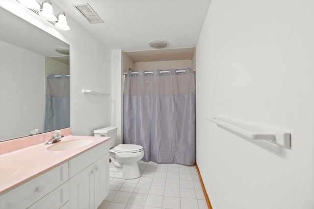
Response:
[[[111,125],[110,96],[82,93],[82,89],[111,92],[111,51],[69,15],[71,30],[61,31],[17,1],[1,0],[0,6],[70,45],[72,134],[92,136],[93,130]],[[56,4],[53,8],[61,10]]]

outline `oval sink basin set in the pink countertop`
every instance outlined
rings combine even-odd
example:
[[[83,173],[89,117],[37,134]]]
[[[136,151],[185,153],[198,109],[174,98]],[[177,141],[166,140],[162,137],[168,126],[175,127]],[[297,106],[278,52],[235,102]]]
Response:
[[[50,145],[47,149],[50,151],[62,151],[69,149],[76,149],[87,144],[92,143],[93,140],[90,139],[73,139],[69,141],[60,141]]]

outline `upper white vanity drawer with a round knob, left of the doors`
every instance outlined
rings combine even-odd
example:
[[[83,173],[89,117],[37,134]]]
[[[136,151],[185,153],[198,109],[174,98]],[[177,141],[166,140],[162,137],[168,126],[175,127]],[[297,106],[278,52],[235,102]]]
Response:
[[[69,165],[67,162],[1,195],[0,208],[25,209],[68,179]]]

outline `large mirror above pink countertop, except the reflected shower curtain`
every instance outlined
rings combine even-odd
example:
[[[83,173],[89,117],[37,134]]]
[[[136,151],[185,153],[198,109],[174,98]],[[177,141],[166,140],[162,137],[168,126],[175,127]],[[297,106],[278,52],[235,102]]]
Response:
[[[70,46],[2,7],[0,28],[0,141],[43,133],[47,76],[70,69],[54,49]]]

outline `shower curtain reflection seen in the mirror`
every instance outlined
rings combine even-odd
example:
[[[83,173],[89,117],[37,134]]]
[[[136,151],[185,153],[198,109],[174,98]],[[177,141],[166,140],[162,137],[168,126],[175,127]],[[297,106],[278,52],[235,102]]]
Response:
[[[65,74],[47,79],[45,132],[70,127],[70,78]]]

